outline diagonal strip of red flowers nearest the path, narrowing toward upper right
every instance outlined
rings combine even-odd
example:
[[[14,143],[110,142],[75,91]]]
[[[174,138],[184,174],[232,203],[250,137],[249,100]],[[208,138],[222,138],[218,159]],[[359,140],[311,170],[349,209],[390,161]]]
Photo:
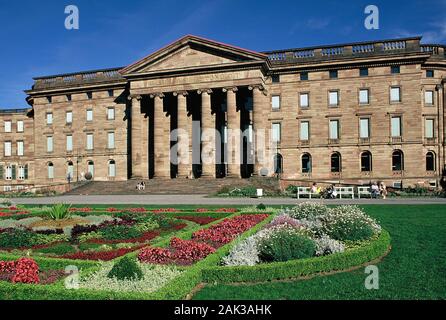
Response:
[[[249,214],[225,219],[208,229],[195,232],[192,238],[197,241],[212,243],[217,247],[222,246],[267,217],[266,214]]]

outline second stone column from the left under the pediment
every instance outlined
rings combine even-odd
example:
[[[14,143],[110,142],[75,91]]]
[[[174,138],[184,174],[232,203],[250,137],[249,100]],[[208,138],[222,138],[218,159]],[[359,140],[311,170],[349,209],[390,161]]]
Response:
[[[156,178],[170,179],[170,118],[164,112],[164,94],[152,94],[154,101],[154,153]]]

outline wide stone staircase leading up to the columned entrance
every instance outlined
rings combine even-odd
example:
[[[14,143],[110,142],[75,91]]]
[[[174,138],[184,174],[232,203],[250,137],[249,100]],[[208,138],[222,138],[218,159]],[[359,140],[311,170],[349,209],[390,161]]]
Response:
[[[278,190],[279,181],[272,178],[250,179],[152,179],[145,181],[144,191],[136,190],[141,180],[128,181],[92,181],[72,190],[67,195],[133,195],[133,194],[216,194],[222,189],[255,186],[265,190]]]

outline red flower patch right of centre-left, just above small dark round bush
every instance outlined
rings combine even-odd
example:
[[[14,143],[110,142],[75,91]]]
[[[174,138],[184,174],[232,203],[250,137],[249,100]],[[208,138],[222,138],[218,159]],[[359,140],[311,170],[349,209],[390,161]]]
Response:
[[[172,238],[170,246],[170,249],[145,248],[139,253],[138,259],[145,263],[189,265],[215,252],[214,248],[205,243],[179,238]]]

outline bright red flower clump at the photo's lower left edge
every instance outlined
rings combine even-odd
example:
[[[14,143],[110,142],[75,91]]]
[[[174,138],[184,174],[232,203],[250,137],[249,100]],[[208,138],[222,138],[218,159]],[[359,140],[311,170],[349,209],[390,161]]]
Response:
[[[0,274],[3,280],[9,280],[12,283],[39,283],[39,266],[29,258],[0,261]]]

